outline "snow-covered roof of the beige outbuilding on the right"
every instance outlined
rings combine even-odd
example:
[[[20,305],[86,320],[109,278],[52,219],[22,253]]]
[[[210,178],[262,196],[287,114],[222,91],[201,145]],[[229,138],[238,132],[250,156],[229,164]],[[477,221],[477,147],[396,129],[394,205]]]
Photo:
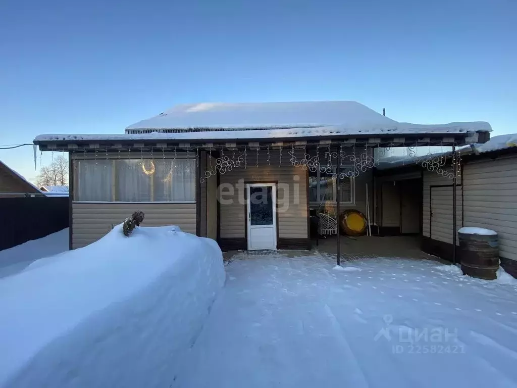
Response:
[[[496,152],[496,151],[507,151],[510,153],[517,153],[517,133],[510,135],[499,135],[494,136],[488,142],[484,144],[472,144],[460,147],[457,150],[462,157],[468,155],[470,158],[483,157],[483,154]],[[420,159],[435,159],[440,156],[450,157],[452,152],[439,152],[430,155],[419,155]],[[417,165],[414,158],[408,155],[402,156],[389,156],[379,161],[376,166],[377,170],[387,170],[402,166]]]

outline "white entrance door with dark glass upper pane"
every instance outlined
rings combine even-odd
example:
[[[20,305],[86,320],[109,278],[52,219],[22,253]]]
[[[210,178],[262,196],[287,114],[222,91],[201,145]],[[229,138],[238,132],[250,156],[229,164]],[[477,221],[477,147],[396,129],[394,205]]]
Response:
[[[248,249],[277,249],[277,187],[275,183],[246,185]]]

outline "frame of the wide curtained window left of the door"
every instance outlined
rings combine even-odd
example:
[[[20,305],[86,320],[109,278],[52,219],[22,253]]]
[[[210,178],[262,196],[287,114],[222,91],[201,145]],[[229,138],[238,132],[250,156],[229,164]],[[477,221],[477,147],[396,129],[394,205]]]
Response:
[[[109,160],[112,162],[112,168],[114,168],[116,161],[117,160],[140,160],[140,159],[143,159],[143,160],[153,160],[154,158],[149,158],[149,157],[131,157],[131,158],[128,158],[128,157],[123,157],[123,158],[118,158],[118,157],[113,157],[110,155],[110,157],[108,158],[99,158],[99,160]],[[151,203],[155,203],[155,204],[192,204],[192,203],[197,203],[196,201],[196,198],[197,198],[197,185],[195,184],[196,182],[196,179],[198,178],[197,177],[197,169],[195,168],[195,158],[192,158],[192,157],[189,157],[187,158],[186,156],[183,156],[183,155],[177,155],[175,158],[171,158],[170,156],[168,157],[165,157],[164,159],[169,159],[169,160],[173,160],[173,159],[181,159],[181,160],[185,160],[185,159],[188,159],[188,160],[192,160],[194,161],[194,171],[195,171],[195,176],[194,176],[194,199],[192,201],[81,201],[81,200],[77,200],[77,197],[79,195],[79,185],[80,185],[80,180],[79,180],[79,170],[80,170],[80,165],[81,165],[81,162],[82,161],[93,161],[95,160],[93,157],[90,157],[90,156],[87,156],[87,157],[83,157],[83,158],[73,158],[72,159],[72,166],[70,166],[70,168],[74,169],[75,171],[77,171],[77,173],[72,173],[72,176],[73,176],[73,193],[72,193],[72,202],[73,203],[121,203],[121,204],[131,204],[131,203],[143,203],[143,204],[151,204]],[[149,182],[153,182],[153,180],[150,180]],[[112,197],[113,198],[116,198],[116,190],[117,190],[117,178],[116,178],[116,174],[112,174],[112,177],[111,177],[111,185],[112,185]]]

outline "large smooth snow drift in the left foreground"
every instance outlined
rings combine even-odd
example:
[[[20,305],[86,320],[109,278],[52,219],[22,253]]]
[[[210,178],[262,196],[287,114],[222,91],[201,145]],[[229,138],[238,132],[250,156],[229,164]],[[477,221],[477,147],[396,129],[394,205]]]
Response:
[[[0,281],[1,387],[168,387],[224,283],[216,242],[118,226]]]

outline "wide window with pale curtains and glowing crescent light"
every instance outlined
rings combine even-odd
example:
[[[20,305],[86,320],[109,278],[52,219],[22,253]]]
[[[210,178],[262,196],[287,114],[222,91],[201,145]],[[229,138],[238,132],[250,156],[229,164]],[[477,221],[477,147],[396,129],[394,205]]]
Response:
[[[78,202],[195,202],[194,159],[75,160]]]

